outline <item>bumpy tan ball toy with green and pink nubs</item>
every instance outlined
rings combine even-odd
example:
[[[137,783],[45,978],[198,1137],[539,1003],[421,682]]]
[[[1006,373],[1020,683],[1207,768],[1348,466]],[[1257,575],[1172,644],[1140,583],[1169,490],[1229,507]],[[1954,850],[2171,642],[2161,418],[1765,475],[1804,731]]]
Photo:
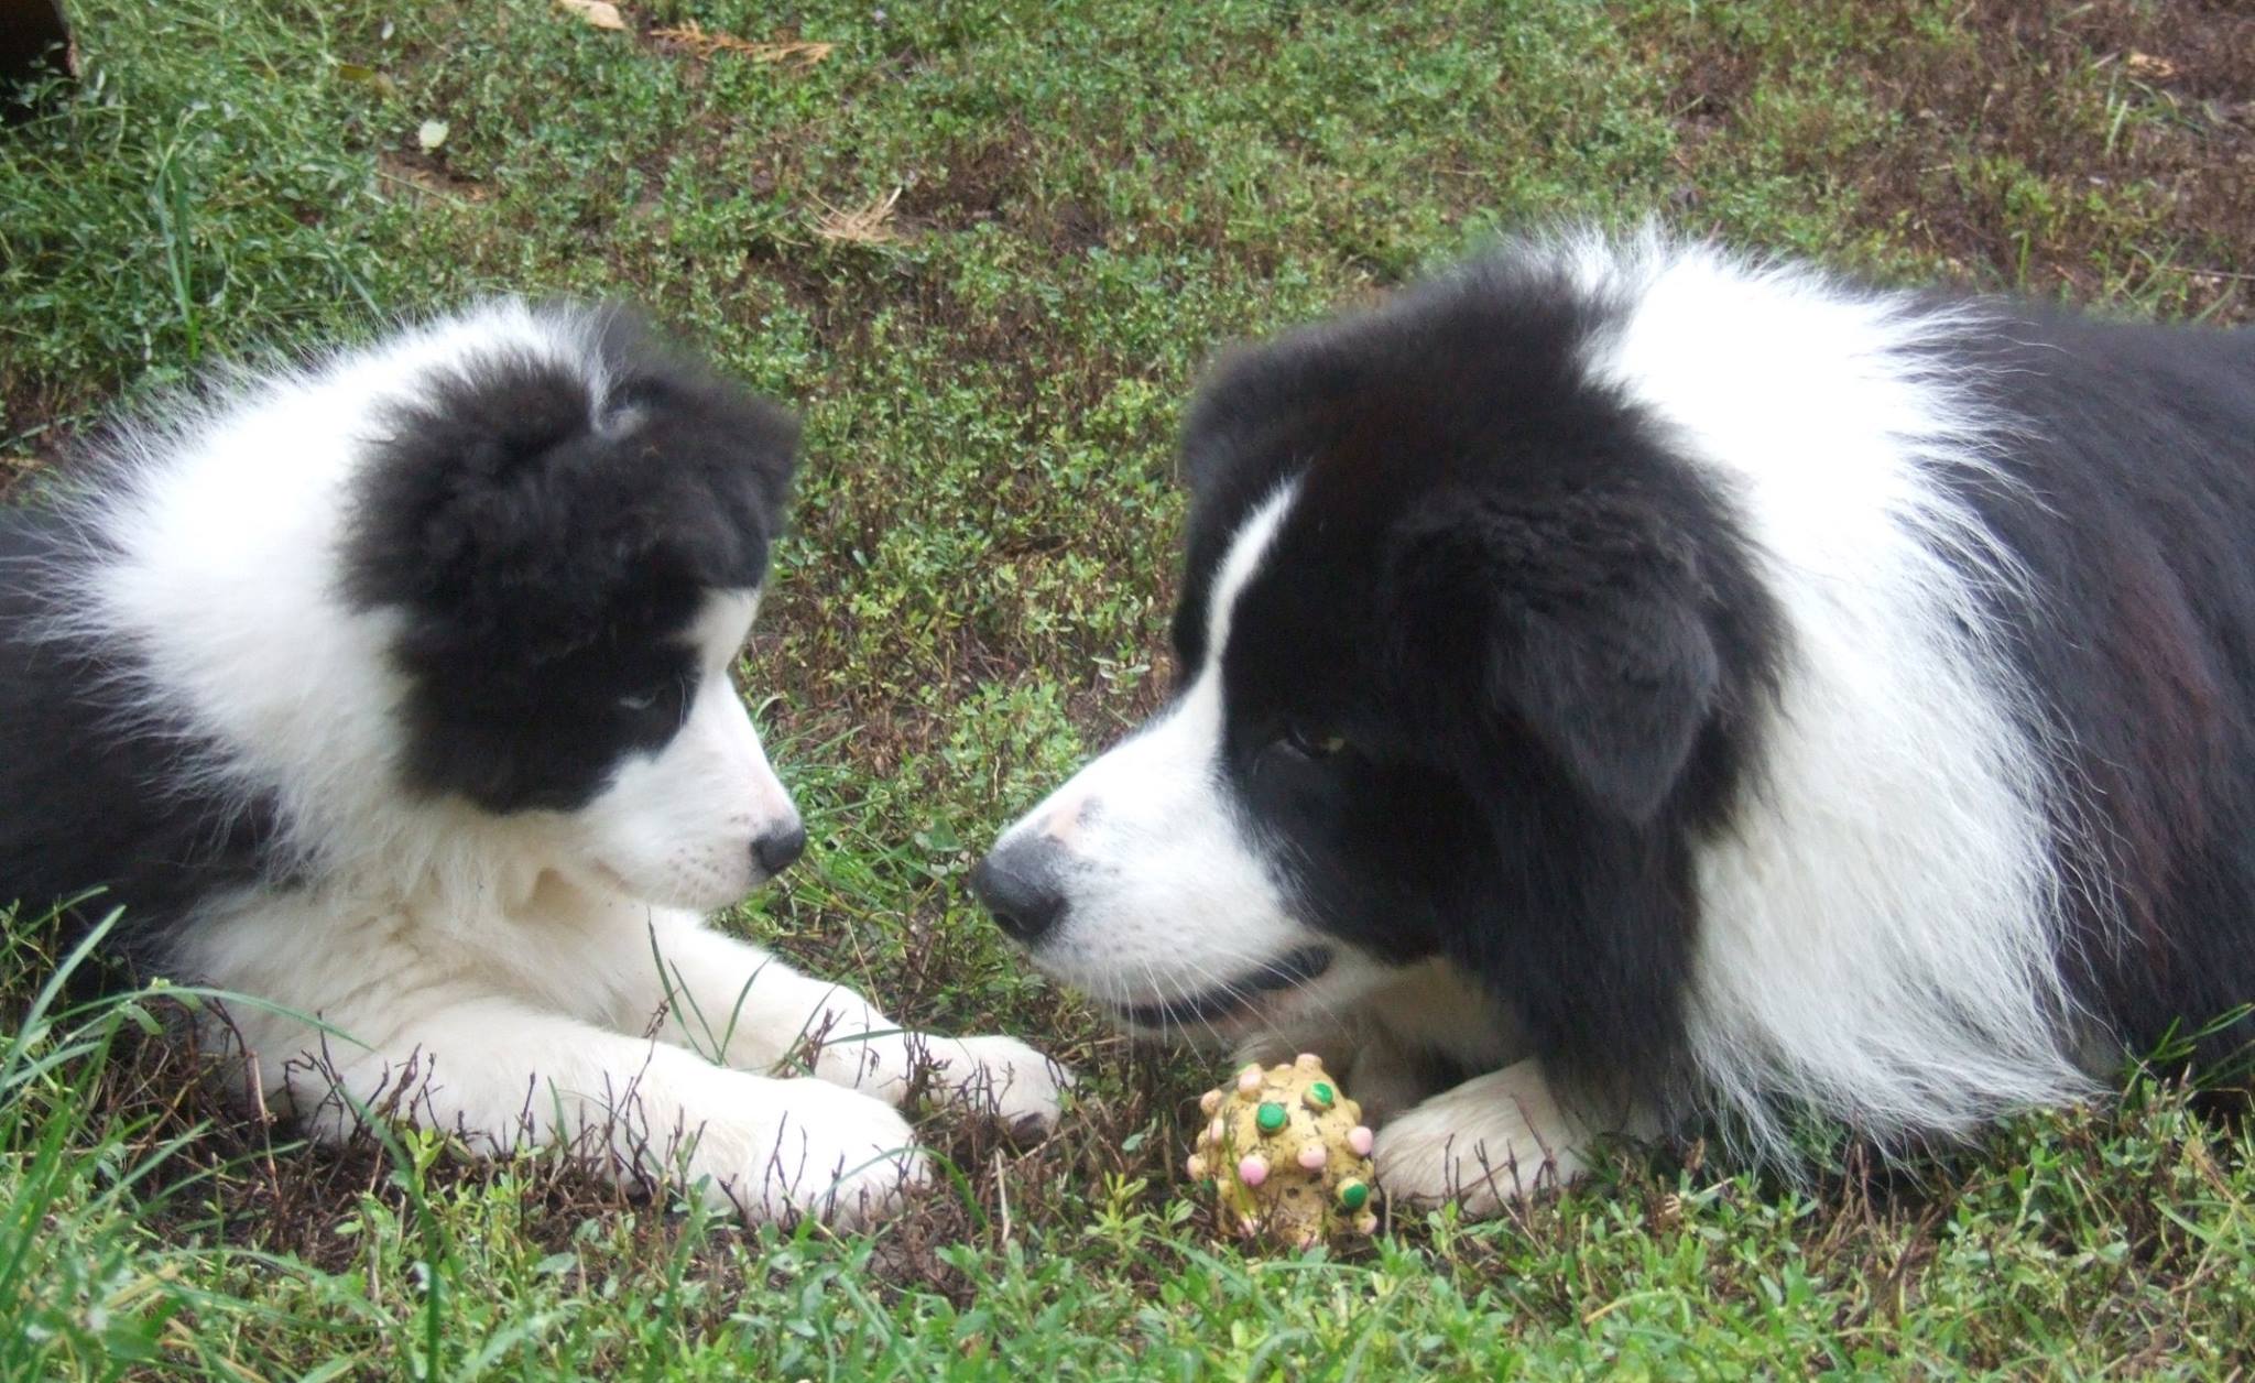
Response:
[[[1315,1054],[1249,1065],[1197,1108],[1206,1126],[1186,1171],[1213,1193],[1224,1232],[1308,1248],[1378,1227],[1371,1130]]]

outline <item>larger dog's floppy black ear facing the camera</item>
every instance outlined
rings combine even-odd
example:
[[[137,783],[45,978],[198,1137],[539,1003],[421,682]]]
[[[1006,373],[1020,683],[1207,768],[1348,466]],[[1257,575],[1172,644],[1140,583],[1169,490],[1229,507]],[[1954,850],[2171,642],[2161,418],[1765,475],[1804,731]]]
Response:
[[[1441,715],[1520,731],[1606,812],[1660,810],[1723,668],[1696,564],[1655,512],[1452,496],[1396,528],[1387,582],[1403,666]]]

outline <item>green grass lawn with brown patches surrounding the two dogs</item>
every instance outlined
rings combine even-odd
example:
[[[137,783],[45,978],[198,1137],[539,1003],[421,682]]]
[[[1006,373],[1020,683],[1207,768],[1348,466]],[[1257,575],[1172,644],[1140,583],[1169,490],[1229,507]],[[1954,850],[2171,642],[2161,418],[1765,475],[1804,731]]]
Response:
[[[1218,345],[1497,228],[1653,212],[2255,318],[2237,5],[620,9],[74,0],[83,86],[0,131],[0,490],[214,359],[492,289],[649,305],[807,417],[753,670],[814,848],[733,925],[904,1020],[1040,1038],[1078,1110],[1035,1148],[931,1126],[958,1178],[875,1236],[744,1232],[415,1137],[291,1151],[144,1008],[41,1008],[47,936],[16,925],[7,1378],[2248,1365],[2250,1133],[2147,1083],[1910,1169],[1630,1148],[1504,1223],[1218,1248],[1179,1173],[1204,1065],[1130,1051],[963,889],[1157,695],[1170,435]]]

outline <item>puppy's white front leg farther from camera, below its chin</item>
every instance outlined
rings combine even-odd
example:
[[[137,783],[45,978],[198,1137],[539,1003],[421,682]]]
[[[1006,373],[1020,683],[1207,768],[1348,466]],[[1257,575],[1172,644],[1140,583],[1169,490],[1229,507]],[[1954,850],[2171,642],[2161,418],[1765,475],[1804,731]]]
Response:
[[[733,1067],[767,1072],[810,1056],[812,1074],[902,1103],[918,1067],[945,1099],[1031,1137],[1058,1121],[1071,1076],[1017,1038],[940,1038],[900,1029],[843,984],[801,975],[771,952],[704,925],[652,927],[656,963],[645,1015],[667,1036]]]

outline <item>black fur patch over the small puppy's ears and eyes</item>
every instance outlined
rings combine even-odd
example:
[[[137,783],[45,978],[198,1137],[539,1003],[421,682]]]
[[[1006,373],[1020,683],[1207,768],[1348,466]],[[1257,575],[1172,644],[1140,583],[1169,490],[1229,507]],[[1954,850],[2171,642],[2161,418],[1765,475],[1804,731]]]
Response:
[[[767,571],[794,420],[631,327],[602,354],[600,404],[580,370],[501,354],[435,377],[374,447],[347,593],[406,618],[417,792],[584,805],[679,729],[706,593]]]

